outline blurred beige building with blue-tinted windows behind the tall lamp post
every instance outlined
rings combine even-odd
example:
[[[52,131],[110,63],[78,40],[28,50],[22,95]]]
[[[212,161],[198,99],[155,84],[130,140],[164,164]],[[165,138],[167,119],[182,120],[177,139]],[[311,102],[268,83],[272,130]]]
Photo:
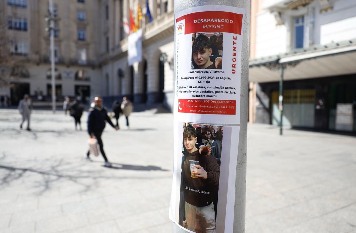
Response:
[[[17,104],[23,94],[34,100],[51,99],[50,42],[46,31],[48,0],[1,0],[1,22],[16,66],[11,68],[10,86],[0,88],[0,95]],[[53,0],[54,56],[56,61],[56,96],[101,94],[101,37],[97,30],[97,0]]]

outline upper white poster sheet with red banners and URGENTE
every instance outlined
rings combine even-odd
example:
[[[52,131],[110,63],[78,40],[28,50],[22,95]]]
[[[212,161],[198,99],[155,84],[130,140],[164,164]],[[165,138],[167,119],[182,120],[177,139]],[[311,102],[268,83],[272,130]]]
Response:
[[[245,10],[200,6],[175,14],[177,117],[189,122],[240,123]]]

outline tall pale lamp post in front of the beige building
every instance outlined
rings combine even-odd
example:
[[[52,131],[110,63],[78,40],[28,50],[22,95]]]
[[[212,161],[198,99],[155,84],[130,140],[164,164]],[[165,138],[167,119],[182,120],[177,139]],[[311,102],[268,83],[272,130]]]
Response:
[[[51,75],[52,75],[52,110],[56,113],[56,83],[54,77],[54,21],[53,21],[53,2],[49,0],[49,31],[51,33]]]

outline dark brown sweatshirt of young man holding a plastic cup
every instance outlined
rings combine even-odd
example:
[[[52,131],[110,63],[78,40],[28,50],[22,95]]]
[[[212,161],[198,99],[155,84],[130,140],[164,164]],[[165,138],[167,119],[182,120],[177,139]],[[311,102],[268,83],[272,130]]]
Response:
[[[190,176],[189,160],[199,161],[199,165],[208,173],[205,180],[201,177]],[[199,154],[199,150],[192,153],[185,152],[183,163],[184,199],[193,206],[208,206],[213,202],[214,189],[219,188],[220,166],[214,156]]]

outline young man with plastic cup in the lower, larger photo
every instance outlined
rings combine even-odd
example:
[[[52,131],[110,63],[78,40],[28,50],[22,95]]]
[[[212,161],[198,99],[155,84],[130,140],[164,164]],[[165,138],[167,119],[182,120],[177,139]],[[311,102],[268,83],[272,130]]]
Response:
[[[199,153],[197,131],[187,124],[183,132],[185,147],[182,164],[185,221],[182,226],[194,232],[214,233],[216,216],[214,191],[219,188],[220,166],[214,156]]]

